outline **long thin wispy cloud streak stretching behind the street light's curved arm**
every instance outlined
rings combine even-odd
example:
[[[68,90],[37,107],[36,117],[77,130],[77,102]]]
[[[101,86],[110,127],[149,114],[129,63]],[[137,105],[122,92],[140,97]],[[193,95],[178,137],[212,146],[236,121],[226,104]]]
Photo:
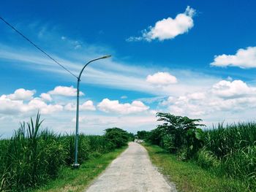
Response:
[[[66,42],[65,42],[66,43]],[[83,43],[85,44],[85,43]],[[71,72],[77,74],[80,71],[80,64],[84,60],[89,60],[90,58],[85,58],[85,55],[91,55],[91,58],[97,58],[99,53],[97,50],[102,49],[102,47],[94,47],[89,52],[86,48],[82,48],[83,53],[73,53],[73,51],[68,52],[66,55],[74,55],[72,58],[59,58],[54,55],[57,61],[70,69]],[[105,53],[111,52],[110,50],[104,50]],[[37,55],[33,53],[33,50],[27,52],[20,52],[17,47],[2,47],[0,44],[0,58],[10,60],[12,62],[19,62],[24,65],[24,67],[29,67],[34,70],[39,70],[40,73],[45,74],[45,72],[50,72],[58,77],[64,77],[65,80],[73,82],[71,75],[61,69],[59,66],[54,65],[51,61],[43,58],[42,55]],[[86,53],[86,54],[85,54]],[[61,55],[61,56],[66,56]],[[75,59],[74,59],[75,58]],[[167,86],[159,87],[156,91],[154,84],[146,82],[146,77],[148,74],[154,74],[159,69],[154,67],[142,66],[140,64],[123,63],[122,61],[113,61],[111,59],[105,59],[102,61],[97,61],[97,65],[91,65],[86,68],[86,81],[82,79],[81,87],[83,83],[97,85],[104,88],[115,88],[118,90],[127,91],[138,91],[142,93],[151,93],[157,96],[170,96],[170,94],[180,95],[184,92],[197,91],[202,87],[208,87],[214,82],[217,82],[219,78],[203,74],[200,72],[192,72],[189,70],[176,69],[172,70],[171,74],[178,77],[178,84],[172,84]],[[173,92],[175,90],[175,92]],[[75,94],[74,94],[75,95]]]

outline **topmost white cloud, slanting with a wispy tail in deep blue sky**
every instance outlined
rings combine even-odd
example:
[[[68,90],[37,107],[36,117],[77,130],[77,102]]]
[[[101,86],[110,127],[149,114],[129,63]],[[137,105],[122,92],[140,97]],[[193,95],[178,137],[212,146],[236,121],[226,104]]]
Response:
[[[187,6],[184,13],[176,15],[176,18],[166,18],[157,21],[154,27],[149,26],[148,29],[142,31],[141,37],[129,37],[128,42],[146,40],[151,42],[154,39],[163,41],[165,39],[173,39],[179,34],[184,34],[194,26],[193,16],[195,9]]]

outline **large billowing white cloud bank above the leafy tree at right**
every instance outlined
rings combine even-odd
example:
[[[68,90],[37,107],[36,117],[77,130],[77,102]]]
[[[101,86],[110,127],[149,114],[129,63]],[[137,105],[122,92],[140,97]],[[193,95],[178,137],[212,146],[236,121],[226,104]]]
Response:
[[[256,107],[256,88],[241,80],[222,80],[204,92],[170,96],[161,104],[176,115],[217,117],[217,112],[242,112]]]

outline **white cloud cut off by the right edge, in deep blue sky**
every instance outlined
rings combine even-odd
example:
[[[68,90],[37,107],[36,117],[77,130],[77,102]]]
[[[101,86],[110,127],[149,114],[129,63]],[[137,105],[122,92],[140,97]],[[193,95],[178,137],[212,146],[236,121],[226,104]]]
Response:
[[[215,55],[211,66],[238,66],[242,69],[256,67],[256,47],[239,49],[236,55]]]

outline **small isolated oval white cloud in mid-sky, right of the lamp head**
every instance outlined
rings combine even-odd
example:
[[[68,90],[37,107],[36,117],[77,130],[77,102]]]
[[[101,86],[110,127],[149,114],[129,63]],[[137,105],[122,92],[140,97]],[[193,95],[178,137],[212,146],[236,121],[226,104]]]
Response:
[[[149,74],[146,77],[146,82],[154,85],[170,85],[177,83],[177,78],[167,72],[157,72],[155,74]]]

